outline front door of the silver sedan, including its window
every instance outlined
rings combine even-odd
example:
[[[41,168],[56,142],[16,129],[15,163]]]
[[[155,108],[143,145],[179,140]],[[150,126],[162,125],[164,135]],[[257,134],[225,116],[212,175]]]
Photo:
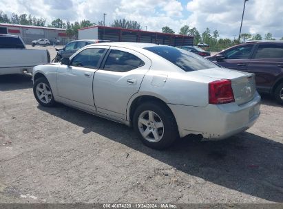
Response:
[[[59,97],[78,108],[95,111],[92,82],[108,48],[87,48],[71,58],[70,66],[59,65],[56,75]]]

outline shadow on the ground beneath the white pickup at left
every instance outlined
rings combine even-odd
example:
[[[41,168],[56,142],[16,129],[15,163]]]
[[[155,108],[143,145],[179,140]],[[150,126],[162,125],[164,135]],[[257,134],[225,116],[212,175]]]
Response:
[[[32,88],[32,75],[12,74],[0,76],[0,91]]]

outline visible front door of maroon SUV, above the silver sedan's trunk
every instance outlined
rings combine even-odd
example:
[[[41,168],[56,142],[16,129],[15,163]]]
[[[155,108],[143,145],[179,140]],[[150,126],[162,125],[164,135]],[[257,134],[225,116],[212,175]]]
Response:
[[[254,46],[254,44],[238,45],[224,52],[220,52],[220,54],[224,56],[224,59],[215,62],[223,67],[246,71]]]

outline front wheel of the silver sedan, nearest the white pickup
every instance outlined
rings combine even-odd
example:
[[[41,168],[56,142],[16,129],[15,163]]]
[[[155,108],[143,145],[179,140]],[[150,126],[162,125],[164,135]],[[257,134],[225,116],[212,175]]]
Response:
[[[37,102],[44,107],[54,107],[55,100],[52,94],[52,90],[50,88],[50,84],[46,78],[39,78],[36,79],[34,82],[34,97],[36,98]]]

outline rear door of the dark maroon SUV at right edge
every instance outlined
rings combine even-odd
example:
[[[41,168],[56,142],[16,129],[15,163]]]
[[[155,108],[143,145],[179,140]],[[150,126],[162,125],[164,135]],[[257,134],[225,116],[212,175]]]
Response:
[[[283,44],[259,43],[247,66],[247,72],[255,74],[255,82],[260,91],[269,92],[277,77],[282,74]]]

